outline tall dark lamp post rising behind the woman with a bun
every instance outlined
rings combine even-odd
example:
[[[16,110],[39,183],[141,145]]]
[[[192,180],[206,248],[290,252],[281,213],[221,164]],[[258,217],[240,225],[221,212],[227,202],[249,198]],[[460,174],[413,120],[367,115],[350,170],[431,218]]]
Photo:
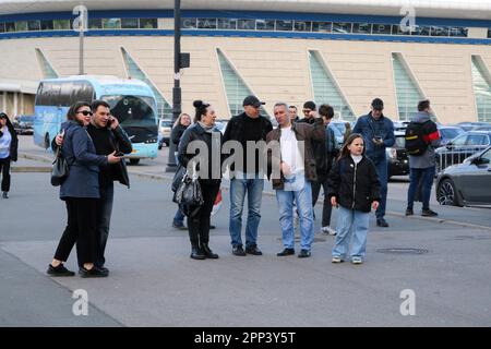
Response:
[[[172,124],[181,113],[181,0],[173,1],[173,88],[172,88]],[[177,164],[173,153],[176,146],[169,141],[169,158],[166,172],[176,172]]]

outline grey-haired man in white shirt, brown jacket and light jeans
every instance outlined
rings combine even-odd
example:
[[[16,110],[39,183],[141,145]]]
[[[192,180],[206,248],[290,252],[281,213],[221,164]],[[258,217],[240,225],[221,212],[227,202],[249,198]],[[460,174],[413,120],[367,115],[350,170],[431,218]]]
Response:
[[[310,257],[314,237],[312,181],[318,180],[315,169],[314,144],[312,141],[325,143],[324,122],[319,117],[312,117],[312,124],[304,122],[291,123],[288,106],[277,103],[274,106],[278,129],[267,136],[270,165],[268,174],[276,190],[279,208],[279,225],[282,226],[284,250],[277,256],[295,254],[294,202],[300,218],[300,253],[299,258]],[[276,152],[274,152],[276,151]],[[276,154],[274,154],[276,153]],[[274,174],[274,167],[280,176]],[[275,178],[276,177],[276,178]]]

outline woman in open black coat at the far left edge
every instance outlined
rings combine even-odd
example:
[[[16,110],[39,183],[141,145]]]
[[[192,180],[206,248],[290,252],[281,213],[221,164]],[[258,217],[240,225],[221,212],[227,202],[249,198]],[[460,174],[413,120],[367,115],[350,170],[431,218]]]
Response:
[[[9,198],[10,161],[17,160],[19,140],[15,130],[4,112],[0,112],[0,173],[2,197]]]

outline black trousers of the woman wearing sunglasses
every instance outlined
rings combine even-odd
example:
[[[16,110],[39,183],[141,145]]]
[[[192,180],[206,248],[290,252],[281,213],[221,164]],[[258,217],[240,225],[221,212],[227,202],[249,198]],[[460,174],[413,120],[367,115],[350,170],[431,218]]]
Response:
[[[68,222],[58,243],[55,260],[65,262],[77,244],[77,260],[94,263],[96,253],[97,198],[68,197]]]

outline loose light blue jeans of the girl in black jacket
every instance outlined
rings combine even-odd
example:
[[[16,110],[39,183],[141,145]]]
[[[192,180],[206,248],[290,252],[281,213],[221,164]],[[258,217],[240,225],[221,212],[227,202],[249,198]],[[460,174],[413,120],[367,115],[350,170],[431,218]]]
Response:
[[[351,257],[363,258],[367,249],[367,233],[370,213],[348,209],[339,206],[336,227],[336,242],[333,248],[333,256],[345,258],[351,244]]]

